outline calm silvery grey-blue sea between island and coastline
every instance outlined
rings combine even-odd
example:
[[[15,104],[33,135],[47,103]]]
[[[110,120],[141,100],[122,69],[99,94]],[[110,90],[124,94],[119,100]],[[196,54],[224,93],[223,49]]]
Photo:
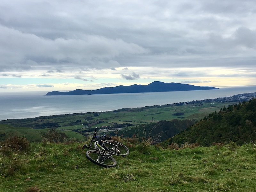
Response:
[[[139,108],[256,92],[256,85],[214,90],[45,96],[47,92],[0,93],[0,120]]]

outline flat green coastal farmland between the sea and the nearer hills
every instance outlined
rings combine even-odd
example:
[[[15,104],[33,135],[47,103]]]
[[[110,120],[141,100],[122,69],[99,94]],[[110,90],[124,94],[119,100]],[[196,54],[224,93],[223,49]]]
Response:
[[[173,106],[153,106],[134,109],[121,109],[109,112],[76,113],[68,115],[42,116],[28,119],[9,119],[0,121],[0,141],[10,136],[28,135],[30,142],[42,141],[42,135],[49,129],[56,129],[67,135],[68,138],[85,140],[79,132],[92,131],[89,128],[113,127],[115,124],[139,124],[156,123],[161,120],[189,119],[193,122],[200,121],[204,116],[219,111],[224,106],[236,103],[203,103]],[[184,115],[175,116],[175,113]],[[8,126],[12,126],[11,128]],[[74,132],[76,130],[76,132]]]

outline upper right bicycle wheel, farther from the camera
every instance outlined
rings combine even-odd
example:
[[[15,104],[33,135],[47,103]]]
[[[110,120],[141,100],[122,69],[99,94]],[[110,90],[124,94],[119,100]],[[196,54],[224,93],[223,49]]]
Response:
[[[117,145],[117,147],[115,145]],[[114,140],[105,140],[103,148],[109,152],[120,152],[119,155],[121,156],[126,156],[130,152],[124,144]]]

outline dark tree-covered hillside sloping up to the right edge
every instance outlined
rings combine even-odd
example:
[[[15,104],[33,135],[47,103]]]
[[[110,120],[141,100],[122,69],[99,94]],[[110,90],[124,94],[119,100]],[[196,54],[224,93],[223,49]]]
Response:
[[[223,107],[220,112],[205,116],[204,120],[164,141],[163,145],[187,142],[210,146],[230,141],[238,145],[256,143],[256,99]]]

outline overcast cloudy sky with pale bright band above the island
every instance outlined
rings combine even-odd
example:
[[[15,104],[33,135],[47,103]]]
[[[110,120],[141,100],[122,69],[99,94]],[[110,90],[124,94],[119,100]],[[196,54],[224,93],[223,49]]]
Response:
[[[0,92],[256,85],[255,0],[1,0]]]

